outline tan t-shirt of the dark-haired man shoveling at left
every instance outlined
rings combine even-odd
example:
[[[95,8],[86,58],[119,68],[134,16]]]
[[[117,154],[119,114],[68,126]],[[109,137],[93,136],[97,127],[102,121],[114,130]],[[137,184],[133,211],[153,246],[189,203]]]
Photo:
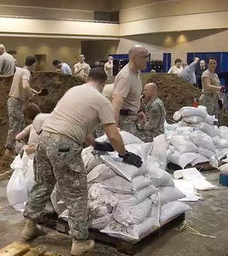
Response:
[[[20,68],[20,70],[17,70],[17,72],[14,74],[9,96],[20,99],[21,101],[25,101],[26,93],[22,86],[22,80],[26,79],[30,81],[30,76],[31,73],[26,68]]]

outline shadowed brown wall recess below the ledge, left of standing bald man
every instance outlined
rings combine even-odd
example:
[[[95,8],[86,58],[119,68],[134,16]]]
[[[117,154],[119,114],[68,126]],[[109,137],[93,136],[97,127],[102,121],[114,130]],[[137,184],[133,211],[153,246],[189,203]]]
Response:
[[[86,56],[86,62],[94,64],[98,59],[107,59],[108,54],[116,54],[119,41],[82,41],[81,52]]]

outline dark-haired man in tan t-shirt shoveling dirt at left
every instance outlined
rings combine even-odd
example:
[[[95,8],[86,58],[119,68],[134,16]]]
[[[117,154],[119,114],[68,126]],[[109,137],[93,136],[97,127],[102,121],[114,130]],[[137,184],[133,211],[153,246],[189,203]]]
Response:
[[[23,105],[25,97],[33,97],[37,91],[30,88],[30,75],[36,64],[35,56],[28,56],[25,60],[25,67],[17,70],[12,81],[7,101],[7,111],[9,116],[9,130],[6,140],[5,160],[14,160],[15,137],[22,130],[24,123]]]

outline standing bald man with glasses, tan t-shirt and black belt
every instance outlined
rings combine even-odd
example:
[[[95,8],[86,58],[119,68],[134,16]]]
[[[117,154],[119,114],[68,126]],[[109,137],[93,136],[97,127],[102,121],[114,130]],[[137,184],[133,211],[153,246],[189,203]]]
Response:
[[[116,125],[123,131],[137,134],[137,117],[145,119],[139,112],[142,81],[140,70],[145,69],[149,61],[149,52],[136,45],[129,51],[129,63],[116,75],[113,88],[113,112]]]

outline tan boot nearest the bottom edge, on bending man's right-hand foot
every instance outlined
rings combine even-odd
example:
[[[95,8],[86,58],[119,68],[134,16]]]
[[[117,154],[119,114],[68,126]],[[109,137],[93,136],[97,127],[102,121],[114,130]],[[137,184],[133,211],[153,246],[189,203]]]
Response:
[[[73,241],[70,254],[73,256],[83,255],[85,252],[92,252],[95,248],[93,240]]]

